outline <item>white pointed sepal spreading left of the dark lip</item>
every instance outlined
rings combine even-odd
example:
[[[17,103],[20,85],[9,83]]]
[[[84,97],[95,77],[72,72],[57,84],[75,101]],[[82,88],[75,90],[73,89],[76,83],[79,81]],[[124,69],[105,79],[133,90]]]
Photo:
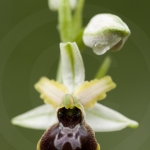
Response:
[[[51,105],[45,104],[13,118],[11,122],[26,128],[45,130],[57,122],[55,111]]]

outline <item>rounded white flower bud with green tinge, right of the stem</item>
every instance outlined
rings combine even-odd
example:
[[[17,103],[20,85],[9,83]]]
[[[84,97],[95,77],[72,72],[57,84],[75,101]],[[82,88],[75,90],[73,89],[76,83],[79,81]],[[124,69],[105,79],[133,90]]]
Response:
[[[120,50],[130,35],[128,26],[116,15],[98,14],[94,16],[83,33],[83,42],[102,55],[108,50]]]

